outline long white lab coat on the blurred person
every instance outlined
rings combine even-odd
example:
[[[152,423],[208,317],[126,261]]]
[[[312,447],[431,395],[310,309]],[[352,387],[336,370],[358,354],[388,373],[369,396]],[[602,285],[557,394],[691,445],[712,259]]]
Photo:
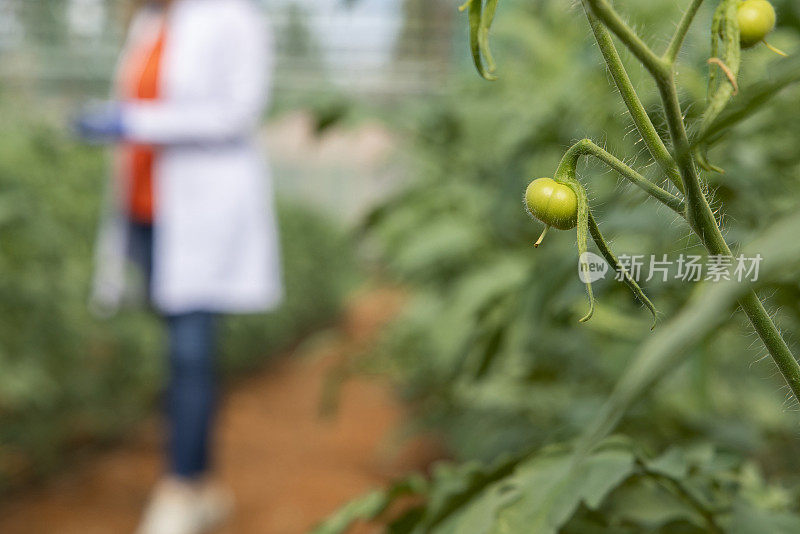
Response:
[[[135,17],[121,63],[157,31],[154,16]],[[166,314],[264,311],[282,297],[271,182],[256,143],[272,61],[262,20],[249,0],[176,0],[161,98],[123,103],[126,139],[159,147],[150,294]],[[111,180],[97,247],[93,302],[106,311],[127,294],[124,183]]]

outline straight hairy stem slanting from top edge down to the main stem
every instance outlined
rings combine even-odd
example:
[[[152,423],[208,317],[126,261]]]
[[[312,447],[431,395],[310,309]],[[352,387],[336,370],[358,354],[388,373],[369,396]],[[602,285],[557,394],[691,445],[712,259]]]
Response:
[[[675,160],[672,159],[672,155],[669,153],[669,150],[667,150],[661,136],[656,132],[653,121],[650,120],[650,116],[639,100],[639,95],[636,94],[636,90],[633,88],[631,79],[628,77],[625,66],[622,64],[622,60],[617,52],[617,48],[614,46],[614,41],[611,39],[611,34],[591,12],[587,0],[582,0],[582,2],[586,17],[589,19],[589,25],[597,40],[597,45],[606,60],[608,72],[614,79],[614,83],[622,96],[622,100],[625,102],[625,106],[631,114],[633,123],[636,125],[636,129],[639,130],[639,135],[642,136],[645,146],[650,151],[650,155],[653,156],[656,163],[661,166],[675,187],[683,193],[683,183],[681,183],[681,174],[680,171],[678,171],[678,166],[675,164]]]

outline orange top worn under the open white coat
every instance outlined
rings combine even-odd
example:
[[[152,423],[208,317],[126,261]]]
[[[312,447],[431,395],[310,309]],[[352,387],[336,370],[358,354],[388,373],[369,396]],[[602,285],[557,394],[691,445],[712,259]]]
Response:
[[[133,50],[122,68],[123,99],[157,100],[161,58],[166,38],[166,24],[162,24],[154,42],[147,42]],[[123,147],[123,157],[129,177],[128,210],[131,219],[141,223],[153,222],[153,166],[158,150],[150,145],[128,143]]]

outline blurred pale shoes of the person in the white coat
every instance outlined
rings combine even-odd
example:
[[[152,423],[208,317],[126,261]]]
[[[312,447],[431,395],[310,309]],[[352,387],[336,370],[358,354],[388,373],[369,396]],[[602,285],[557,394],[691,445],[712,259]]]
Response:
[[[202,534],[231,513],[231,494],[210,483],[165,479],[153,492],[136,534]]]

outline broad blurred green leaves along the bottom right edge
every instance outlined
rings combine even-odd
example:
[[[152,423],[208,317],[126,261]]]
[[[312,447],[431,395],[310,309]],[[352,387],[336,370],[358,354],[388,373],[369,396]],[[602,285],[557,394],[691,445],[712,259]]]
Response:
[[[759,468],[707,445],[652,457],[630,441],[602,443],[576,469],[553,445],[492,464],[440,463],[351,501],[314,534],[339,534],[384,516],[399,497],[425,496],[388,522],[391,534],[791,534],[796,496]]]

